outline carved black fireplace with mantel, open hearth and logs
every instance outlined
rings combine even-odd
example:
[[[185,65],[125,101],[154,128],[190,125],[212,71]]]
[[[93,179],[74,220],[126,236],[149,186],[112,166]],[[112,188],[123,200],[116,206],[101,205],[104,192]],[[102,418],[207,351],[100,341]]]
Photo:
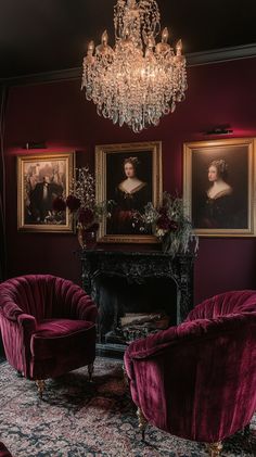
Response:
[[[98,350],[124,352],[135,338],[177,325],[193,307],[192,255],[79,252],[84,289],[99,307]]]

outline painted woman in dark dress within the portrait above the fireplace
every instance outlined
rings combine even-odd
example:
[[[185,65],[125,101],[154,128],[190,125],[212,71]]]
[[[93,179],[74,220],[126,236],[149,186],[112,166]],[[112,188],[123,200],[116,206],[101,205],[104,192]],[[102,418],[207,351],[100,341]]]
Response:
[[[107,230],[116,234],[137,234],[140,229],[135,225],[132,214],[142,212],[148,202],[152,200],[151,182],[140,178],[139,168],[141,160],[138,156],[128,156],[121,161],[123,178],[117,182],[112,200],[115,205]],[[144,173],[144,178],[146,173]]]

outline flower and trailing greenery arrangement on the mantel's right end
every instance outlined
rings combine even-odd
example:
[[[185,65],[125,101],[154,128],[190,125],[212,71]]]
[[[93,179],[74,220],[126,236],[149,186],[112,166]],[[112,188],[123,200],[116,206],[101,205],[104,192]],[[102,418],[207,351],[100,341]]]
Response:
[[[133,213],[135,225],[141,231],[152,229],[161,240],[163,251],[175,256],[178,253],[187,254],[199,250],[199,237],[193,231],[190,218],[185,215],[184,203],[181,198],[172,198],[168,192],[163,193],[163,203],[154,207],[149,202],[144,213]]]

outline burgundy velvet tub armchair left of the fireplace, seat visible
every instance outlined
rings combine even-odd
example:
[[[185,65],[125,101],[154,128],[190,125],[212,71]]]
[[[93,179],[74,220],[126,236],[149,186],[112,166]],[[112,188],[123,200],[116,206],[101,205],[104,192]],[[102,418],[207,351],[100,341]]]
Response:
[[[44,380],[95,358],[97,306],[72,281],[28,275],[0,284],[0,330],[8,361],[25,378]]]

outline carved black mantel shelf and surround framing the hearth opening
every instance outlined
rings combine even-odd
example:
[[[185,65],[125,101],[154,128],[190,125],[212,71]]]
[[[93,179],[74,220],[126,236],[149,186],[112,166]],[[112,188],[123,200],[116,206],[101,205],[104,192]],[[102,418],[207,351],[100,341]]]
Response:
[[[177,322],[193,307],[193,255],[171,257],[161,251],[81,250],[84,289],[91,294],[100,276],[123,277],[129,283],[143,283],[148,278],[170,278],[177,285]]]

